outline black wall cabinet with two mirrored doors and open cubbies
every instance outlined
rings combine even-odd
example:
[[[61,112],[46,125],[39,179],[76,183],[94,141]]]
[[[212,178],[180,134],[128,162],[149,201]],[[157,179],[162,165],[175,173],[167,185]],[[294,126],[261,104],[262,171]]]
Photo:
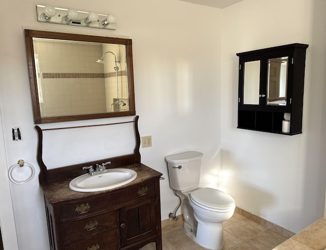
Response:
[[[307,44],[288,44],[237,53],[238,128],[302,133]]]

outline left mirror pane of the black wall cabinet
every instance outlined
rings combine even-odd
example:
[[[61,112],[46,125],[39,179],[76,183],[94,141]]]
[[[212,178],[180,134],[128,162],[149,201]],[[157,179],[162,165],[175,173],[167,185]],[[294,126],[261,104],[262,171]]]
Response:
[[[260,61],[244,63],[243,104],[259,104]]]

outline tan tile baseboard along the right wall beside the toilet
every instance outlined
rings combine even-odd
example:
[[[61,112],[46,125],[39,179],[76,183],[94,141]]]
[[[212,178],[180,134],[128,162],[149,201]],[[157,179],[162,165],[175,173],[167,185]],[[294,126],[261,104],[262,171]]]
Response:
[[[255,221],[255,223],[258,223],[259,225],[275,232],[275,233],[278,233],[278,234],[281,234],[283,235],[284,237],[286,238],[291,238],[293,235],[295,235],[295,233],[285,229],[285,228],[282,228],[281,226],[279,225],[276,225],[274,223],[271,223],[270,221],[266,220],[266,219],[263,219],[261,217],[259,217],[258,215],[256,214],[253,214],[253,213],[250,213],[248,212],[247,210],[244,210],[240,207],[235,207],[235,211],[236,213],[242,215],[243,217],[246,217],[247,219],[250,219],[252,221]]]

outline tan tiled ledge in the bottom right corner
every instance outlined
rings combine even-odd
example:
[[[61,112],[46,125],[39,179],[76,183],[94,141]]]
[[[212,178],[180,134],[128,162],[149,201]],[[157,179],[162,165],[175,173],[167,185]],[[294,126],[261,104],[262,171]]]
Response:
[[[320,218],[303,231],[295,234],[273,250],[324,250],[326,249],[326,218]]]

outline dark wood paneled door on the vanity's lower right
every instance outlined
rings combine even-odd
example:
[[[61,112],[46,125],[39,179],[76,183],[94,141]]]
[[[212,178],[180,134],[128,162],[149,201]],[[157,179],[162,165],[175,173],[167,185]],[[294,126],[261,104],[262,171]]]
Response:
[[[119,209],[121,247],[157,235],[155,197]]]

